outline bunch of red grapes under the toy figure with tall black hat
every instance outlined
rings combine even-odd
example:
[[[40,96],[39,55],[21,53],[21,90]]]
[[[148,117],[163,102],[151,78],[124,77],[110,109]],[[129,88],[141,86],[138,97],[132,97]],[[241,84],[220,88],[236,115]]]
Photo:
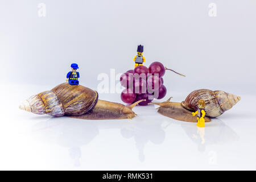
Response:
[[[120,77],[121,85],[125,89],[121,93],[121,99],[127,104],[133,104],[139,100],[139,105],[148,105],[154,98],[161,99],[166,96],[167,89],[163,85],[163,76],[166,72],[164,65],[154,62],[147,68],[143,65],[130,69]]]

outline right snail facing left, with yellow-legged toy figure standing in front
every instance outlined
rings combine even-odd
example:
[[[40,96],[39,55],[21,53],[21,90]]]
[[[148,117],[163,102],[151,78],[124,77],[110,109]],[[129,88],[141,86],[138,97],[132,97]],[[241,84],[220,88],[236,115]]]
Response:
[[[192,116],[191,112],[198,109],[197,102],[203,99],[205,101],[205,122],[210,118],[218,117],[226,110],[229,110],[240,101],[241,97],[226,93],[224,91],[199,89],[191,92],[183,102],[170,102],[169,98],[165,102],[151,102],[150,104],[159,105],[158,112],[170,118],[180,121],[197,122],[197,117]]]

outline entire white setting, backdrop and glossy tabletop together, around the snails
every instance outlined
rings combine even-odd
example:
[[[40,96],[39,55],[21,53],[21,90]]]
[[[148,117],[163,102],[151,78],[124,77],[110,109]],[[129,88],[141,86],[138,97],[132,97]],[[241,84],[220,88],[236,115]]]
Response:
[[[38,16],[39,3],[46,16]],[[209,16],[209,3],[217,16]],[[254,103],[256,1],[0,0],[0,169],[256,169]],[[100,73],[134,67],[137,45],[148,66],[161,61],[166,98],[182,101],[199,88],[241,96],[207,123],[135,107],[118,121],[51,118],[18,110],[32,94],[64,82],[79,64],[80,84],[97,90]],[[117,81],[118,82],[118,81]],[[101,99],[121,102],[119,94]],[[196,136],[197,135],[197,138]]]

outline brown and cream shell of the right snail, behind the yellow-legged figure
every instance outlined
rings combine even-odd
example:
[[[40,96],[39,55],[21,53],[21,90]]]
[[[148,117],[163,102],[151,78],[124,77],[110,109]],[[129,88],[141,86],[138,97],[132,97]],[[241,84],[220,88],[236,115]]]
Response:
[[[199,89],[191,92],[185,101],[181,102],[181,105],[186,109],[196,111],[197,102],[200,99],[205,101],[205,115],[214,118],[231,109],[241,98],[220,90]]]

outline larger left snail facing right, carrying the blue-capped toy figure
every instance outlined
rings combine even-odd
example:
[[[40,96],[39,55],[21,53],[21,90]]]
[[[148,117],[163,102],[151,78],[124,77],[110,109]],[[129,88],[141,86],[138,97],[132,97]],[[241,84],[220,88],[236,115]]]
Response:
[[[133,107],[98,100],[98,93],[81,85],[63,83],[24,101],[19,108],[35,114],[53,117],[68,115],[80,119],[126,119],[135,117]]]

